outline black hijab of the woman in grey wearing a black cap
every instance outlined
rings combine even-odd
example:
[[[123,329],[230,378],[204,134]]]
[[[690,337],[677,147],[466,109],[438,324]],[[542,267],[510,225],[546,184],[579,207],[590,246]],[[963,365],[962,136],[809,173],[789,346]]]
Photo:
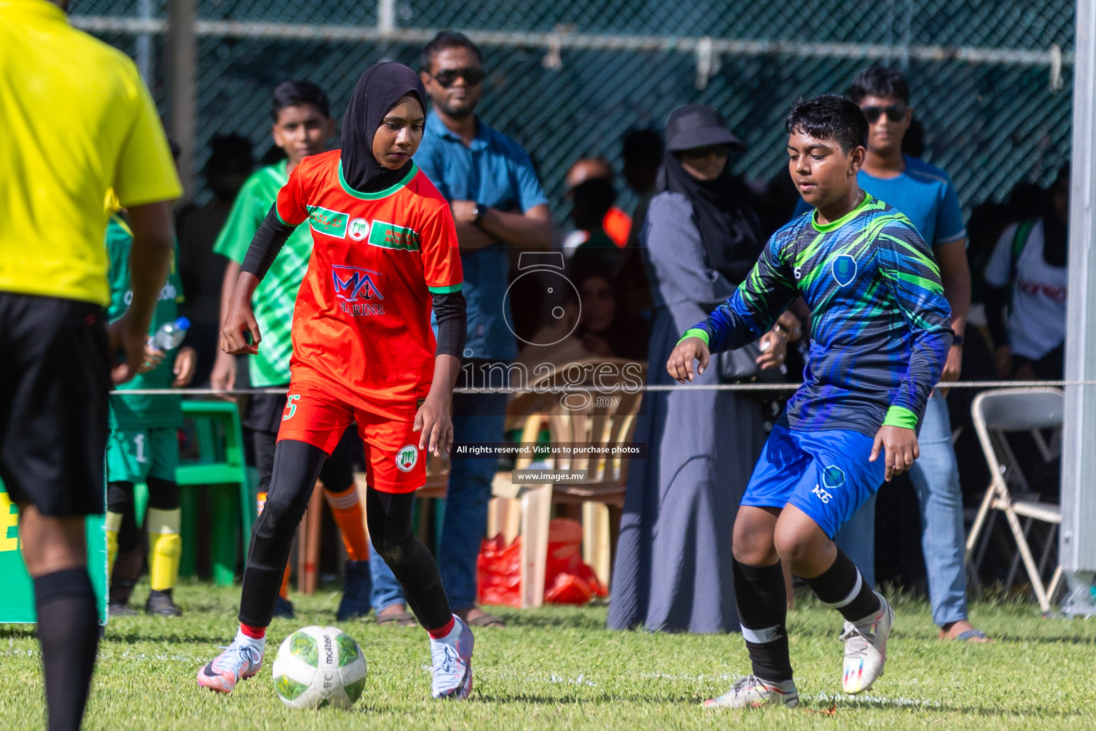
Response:
[[[672,129],[675,127],[675,115],[671,115],[666,126],[666,139],[674,138],[676,150],[711,144],[710,136],[706,134],[709,130],[700,128],[695,130],[696,144],[689,144],[690,130]],[[708,265],[732,284],[741,284],[764,244],[757,216],[747,202],[750,192],[745,184],[731,174],[729,164],[723,167],[723,172],[716,180],[697,180],[682,167],[677,153],[669,149],[663,153],[659,182],[662,190],[681,193],[693,204],[693,221],[700,231]]]

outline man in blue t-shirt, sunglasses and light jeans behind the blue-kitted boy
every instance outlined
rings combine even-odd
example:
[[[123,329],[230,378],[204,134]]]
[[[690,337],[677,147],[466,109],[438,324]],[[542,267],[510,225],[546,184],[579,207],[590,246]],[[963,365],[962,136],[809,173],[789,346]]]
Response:
[[[957,380],[970,309],[967,229],[959,196],[946,172],[902,155],[902,139],[913,121],[913,108],[910,88],[898,70],[875,66],[861,71],[853,79],[848,95],[864,110],[870,128],[868,155],[857,176],[860,187],[901,210],[933,247],[955,331],[940,381]],[[803,210],[807,206],[801,203],[797,213]],[[945,395],[946,389],[937,388],[928,400],[918,436],[921,458],[910,470],[921,503],[928,595],[941,639],[984,641],[985,633],[975,629],[967,615],[962,493]],[[872,583],[875,502],[872,496],[836,537],[857,566],[867,569],[865,580]]]

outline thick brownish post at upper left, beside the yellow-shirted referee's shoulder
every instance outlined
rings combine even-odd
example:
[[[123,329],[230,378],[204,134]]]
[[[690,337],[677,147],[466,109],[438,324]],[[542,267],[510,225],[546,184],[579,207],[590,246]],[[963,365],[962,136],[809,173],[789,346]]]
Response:
[[[168,129],[179,144],[179,176],[183,199],[194,195],[194,140],[197,128],[195,77],[197,36],[194,22],[197,0],[171,0],[168,3]]]

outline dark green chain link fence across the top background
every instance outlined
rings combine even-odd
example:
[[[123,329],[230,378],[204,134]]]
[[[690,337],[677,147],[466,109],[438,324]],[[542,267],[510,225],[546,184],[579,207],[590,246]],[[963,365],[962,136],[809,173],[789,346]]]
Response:
[[[145,44],[162,108],[164,0],[73,0],[70,12],[132,56]],[[616,161],[626,132],[661,128],[688,102],[721,110],[747,144],[739,171],[784,175],[789,103],[843,92],[876,61],[906,71],[924,158],[950,173],[968,212],[1019,182],[1048,183],[1070,155],[1070,0],[199,0],[197,19],[198,170],[214,135],[269,148],[279,81],[319,83],[339,116],[363,69],[418,67],[442,27],[480,44],[480,114],[533,156],[560,222],[576,158]]]

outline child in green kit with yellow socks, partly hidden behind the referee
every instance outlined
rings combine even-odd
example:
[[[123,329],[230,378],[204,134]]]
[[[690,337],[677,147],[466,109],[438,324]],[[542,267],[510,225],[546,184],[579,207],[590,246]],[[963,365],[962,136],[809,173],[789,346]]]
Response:
[[[110,256],[111,305],[107,320],[113,321],[129,309],[129,249],[133,232],[119,213],[106,227]],[[160,289],[149,336],[179,317],[183,300],[178,270],[179,247],[174,247],[168,281]],[[162,389],[186,386],[194,375],[194,350],[180,347],[161,352],[146,349],[145,369],[118,390]],[[170,365],[169,365],[170,364]],[[140,536],[134,513],[134,484],[148,487],[148,567],[151,593],[146,612],[179,616],[171,592],[179,579],[182,539],[179,535],[179,492],[175,467],[179,465],[179,427],[183,425],[182,397],[153,395],[111,396],[111,435],[106,444],[106,536],[111,570],[111,614],[134,614],[126,606],[140,572]]]

